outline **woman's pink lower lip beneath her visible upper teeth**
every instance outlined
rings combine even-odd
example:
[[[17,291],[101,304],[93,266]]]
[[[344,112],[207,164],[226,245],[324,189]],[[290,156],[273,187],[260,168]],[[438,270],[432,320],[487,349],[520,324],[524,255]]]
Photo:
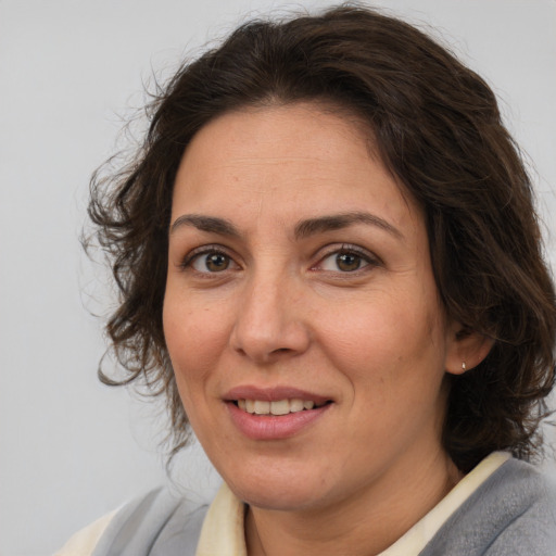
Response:
[[[251,440],[282,440],[299,434],[319,419],[332,404],[288,415],[256,415],[226,403],[236,427]]]

